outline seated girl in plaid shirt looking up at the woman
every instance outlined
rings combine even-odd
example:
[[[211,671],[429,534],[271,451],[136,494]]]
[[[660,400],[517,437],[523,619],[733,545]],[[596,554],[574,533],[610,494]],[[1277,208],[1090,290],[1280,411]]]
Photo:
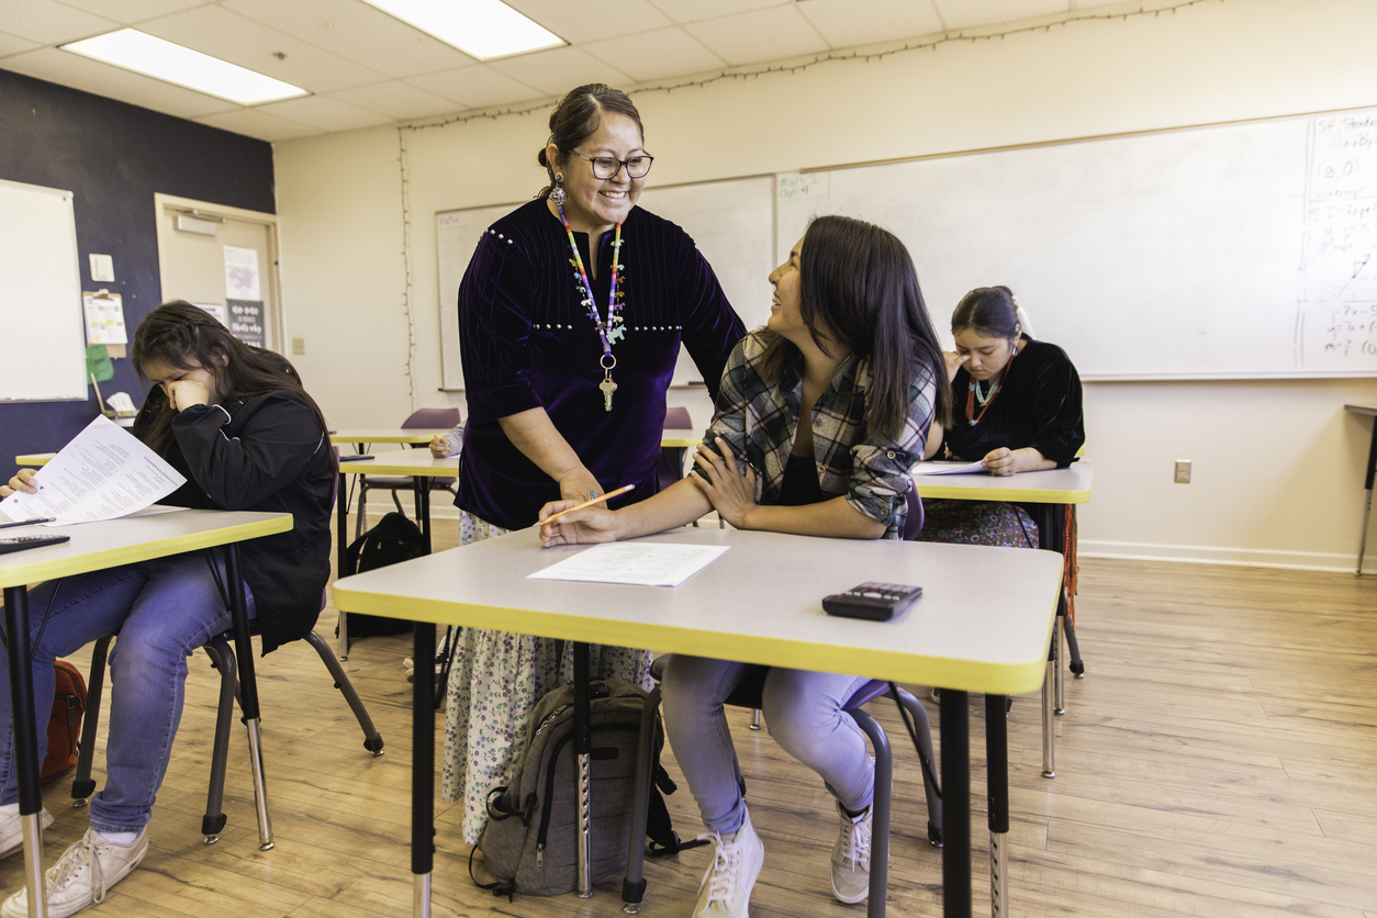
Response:
[[[709,509],[737,529],[901,538],[909,469],[923,458],[934,418],[946,424],[952,413],[946,363],[907,249],[877,226],[822,216],[770,282],[770,321],[727,362],[697,468],[639,504],[544,523],[547,546],[658,533]],[[547,504],[540,519],[570,506]],[[723,714],[723,701],[757,672],[677,654],[665,672],[665,731],[716,844],[695,918],[745,915],[760,874],[764,848]],[[837,801],[832,889],[845,903],[862,901],[870,882],[874,764],[841,710],[865,681],[774,668],[763,698],[771,735]]]

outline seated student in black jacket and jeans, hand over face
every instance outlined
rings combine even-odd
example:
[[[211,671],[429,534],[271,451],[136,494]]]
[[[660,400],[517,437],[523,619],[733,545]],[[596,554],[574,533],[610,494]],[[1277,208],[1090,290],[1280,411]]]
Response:
[[[240,549],[249,615],[267,654],[306,633],[330,573],[335,460],[319,407],[292,365],[249,347],[202,310],[174,300],[139,323],[131,356],[154,384],[134,435],[187,480],[165,504],[288,512],[289,533]],[[0,487],[33,493],[33,471]],[[110,652],[107,779],[91,798],[91,827],[48,871],[48,914],[76,914],[147,852],[147,823],[182,717],[186,658],[230,628],[223,560],[191,552],[48,581],[30,590],[34,706],[52,707],[52,661],[118,633]],[[0,856],[22,844],[8,657],[0,654]],[[39,732],[43,758],[47,734]],[[43,823],[52,822],[47,811]],[[0,907],[28,915],[23,890]]]

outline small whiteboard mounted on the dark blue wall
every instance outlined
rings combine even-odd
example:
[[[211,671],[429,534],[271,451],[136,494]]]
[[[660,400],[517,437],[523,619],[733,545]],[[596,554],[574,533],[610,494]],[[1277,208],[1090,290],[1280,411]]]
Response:
[[[87,399],[70,191],[0,180],[0,401]]]

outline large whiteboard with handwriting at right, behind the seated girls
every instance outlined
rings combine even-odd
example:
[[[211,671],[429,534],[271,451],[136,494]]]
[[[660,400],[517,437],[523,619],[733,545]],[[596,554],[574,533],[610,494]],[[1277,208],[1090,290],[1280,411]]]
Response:
[[[1332,114],[779,175],[880,223],[932,318],[1013,289],[1089,378],[1377,374],[1377,116]]]

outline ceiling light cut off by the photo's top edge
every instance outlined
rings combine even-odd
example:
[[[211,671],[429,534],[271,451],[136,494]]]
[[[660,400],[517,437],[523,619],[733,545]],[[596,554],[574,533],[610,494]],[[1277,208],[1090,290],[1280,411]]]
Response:
[[[479,61],[567,44],[501,0],[364,1]]]

